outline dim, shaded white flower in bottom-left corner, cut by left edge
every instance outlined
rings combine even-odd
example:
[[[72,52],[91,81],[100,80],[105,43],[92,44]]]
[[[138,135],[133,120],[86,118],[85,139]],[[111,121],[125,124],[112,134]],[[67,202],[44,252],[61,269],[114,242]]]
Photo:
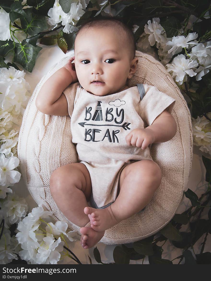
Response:
[[[13,259],[18,259],[17,255],[14,253],[17,244],[17,240],[10,237],[9,231],[3,232],[0,240],[0,264],[8,264]]]

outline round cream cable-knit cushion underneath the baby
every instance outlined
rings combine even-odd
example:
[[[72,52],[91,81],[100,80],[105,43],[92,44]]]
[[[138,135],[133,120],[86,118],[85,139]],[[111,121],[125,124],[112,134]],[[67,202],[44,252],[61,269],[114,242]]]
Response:
[[[162,171],[162,182],[152,200],[141,214],[120,222],[106,230],[100,242],[121,244],[146,238],[163,228],[174,216],[187,187],[192,160],[192,126],[187,103],[175,85],[171,75],[152,56],[136,51],[139,58],[136,74],[129,86],[136,83],[155,85],[176,100],[172,116],[177,124],[176,135],[168,142],[153,144],[153,160]],[[56,220],[68,223],[70,230],[79,227],[68,221],[56,206],[50,190],[52,172],[60,166],[77,162],[77,153],[72,144],[69,116],[49,116],[35,106],[36,96],[56,70],[66,64],[63,58],[41,79],[25,110],[18,140],[20,172],[35,201],[46,210],[53,211]]]

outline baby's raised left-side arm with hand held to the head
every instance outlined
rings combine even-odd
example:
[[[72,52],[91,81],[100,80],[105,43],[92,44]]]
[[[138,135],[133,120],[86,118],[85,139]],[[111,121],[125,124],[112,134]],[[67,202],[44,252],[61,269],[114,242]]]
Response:
[[[68,114],[68,103],[63,90],[71,83],[77,82],[77,75],[72,61],[74,57],[68,60],[64,67],[57,70],[42,85],[36,98],[37,109],[45,114],[65,116]]]

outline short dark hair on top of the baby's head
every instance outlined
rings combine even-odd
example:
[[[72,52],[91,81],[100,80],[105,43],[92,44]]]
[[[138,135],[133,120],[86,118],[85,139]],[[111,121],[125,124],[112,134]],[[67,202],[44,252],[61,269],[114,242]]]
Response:
[[[93,28],[113,28],[116,32],[123,33],[125,36],[125,41],[127,42],[127,47],[130,52],[130,58],[131,60],[135,57],[136,54],[136,42],[133,35],[132,30],[123,22],[121,22],[119,19],[116,19],[115,17],[101,17],[98,19],[88,19],[88,21],[81,24],[81,27],[79,31],[76,34],[75,39],[77,36],[84,30],[88,29],[90,27]]]

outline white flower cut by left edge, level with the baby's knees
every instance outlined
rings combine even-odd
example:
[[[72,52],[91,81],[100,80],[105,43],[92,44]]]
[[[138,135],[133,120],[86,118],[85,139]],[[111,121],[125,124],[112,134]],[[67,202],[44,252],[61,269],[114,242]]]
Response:
[[[17,157],[6,158],[4,154],[0,154],[0,185],[8,187],[19,182],[21,174],[14,170],[19,162]]]

